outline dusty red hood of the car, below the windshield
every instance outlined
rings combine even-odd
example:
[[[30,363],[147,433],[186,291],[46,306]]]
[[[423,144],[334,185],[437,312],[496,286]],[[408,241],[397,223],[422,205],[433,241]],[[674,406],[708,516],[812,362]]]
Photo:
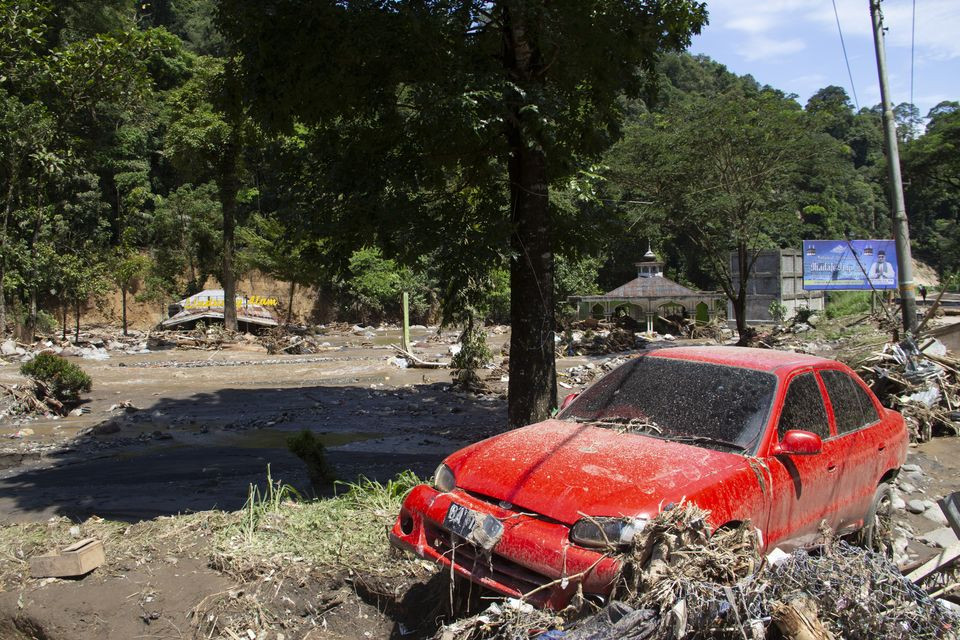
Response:
[[[747,466],[741,455],[548,420],[446,460],[461,489],[572,524],[581,514],[653,516]],[[701,505],[709,508],[709,505]]]

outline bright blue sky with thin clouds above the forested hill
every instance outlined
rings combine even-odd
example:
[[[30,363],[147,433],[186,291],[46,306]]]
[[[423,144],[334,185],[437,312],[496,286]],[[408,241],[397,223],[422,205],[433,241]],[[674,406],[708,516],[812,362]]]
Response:
[[[943,100],[960,101],[960,0],[915,0],[913,102],[925,117]],[[836,0],[853,72],[844,63],[831,0],[707,0],[710,24],[690,47],[739,75],[795,93],[801,104],[837,85],[861,107],[880,103],[869,0]],[[883,0],[893,104],[910,101],[914,0]]]

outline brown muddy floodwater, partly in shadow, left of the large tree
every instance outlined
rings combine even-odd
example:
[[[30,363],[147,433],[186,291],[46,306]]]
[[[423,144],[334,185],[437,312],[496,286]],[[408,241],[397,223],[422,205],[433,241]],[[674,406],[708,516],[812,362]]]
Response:
[[[503,428],[499,397],[451,391],[449,370],[392,365],[383,345],[399,342],[399,332],[324,339],[328,350],[304,356],[242,347],[75,360],[94,380],[89,413],[0,424],[0,437],[34,431],[0,441],[16,465],[0,471],[0,521],[239,508],[268,466],[274,479],[307,490],[303,464],[286,449],[301,429],[320,437],[338,477],[384,480],[405,469],[428,476],[448,453]],[[504,339],[491,343],[498,349]],[[422,342],[417,352],[449,360],[447,349]],[[23,383],[17,370],[0,366],[0,381]],[[135,410],[111,410],[125,401]],[[112,433],[84,435],[108,423]]]

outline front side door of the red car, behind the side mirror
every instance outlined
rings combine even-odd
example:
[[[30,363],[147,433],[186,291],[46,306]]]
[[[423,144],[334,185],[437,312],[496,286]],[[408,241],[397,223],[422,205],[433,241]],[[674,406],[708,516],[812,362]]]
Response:
[[[823,449],[813,455],[768,455],[770,509],[767,546],[794,548],[813,543],[821,522],[837,524],[835,499],[841,456],[832,438],[824,389],[812,369],[800,371],[787,380],[780,406],[777,433],[771,451],[792,429],[810,431],[823,440]]]

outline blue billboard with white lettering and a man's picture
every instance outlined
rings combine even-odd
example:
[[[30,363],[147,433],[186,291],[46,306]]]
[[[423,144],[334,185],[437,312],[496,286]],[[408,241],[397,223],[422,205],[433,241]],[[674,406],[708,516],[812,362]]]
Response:
[[[803,288],[896,289],[893,240],[804,240]]]

